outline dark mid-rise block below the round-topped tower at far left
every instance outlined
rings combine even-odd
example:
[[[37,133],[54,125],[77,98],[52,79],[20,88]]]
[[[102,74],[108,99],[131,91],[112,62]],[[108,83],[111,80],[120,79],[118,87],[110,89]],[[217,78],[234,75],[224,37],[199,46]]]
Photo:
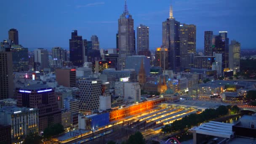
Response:
[[[21,45],[11,45],[13,72],[27,72],[29,70],[29,51]]]

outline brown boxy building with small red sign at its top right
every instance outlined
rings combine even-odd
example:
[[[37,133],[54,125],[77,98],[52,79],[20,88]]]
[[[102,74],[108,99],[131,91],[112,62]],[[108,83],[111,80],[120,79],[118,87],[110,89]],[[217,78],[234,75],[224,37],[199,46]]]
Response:
[[[76,86],[76,69],[72,68],[57,68],[55,70],[56,81],[59,85],[65,87],[75,87]]]

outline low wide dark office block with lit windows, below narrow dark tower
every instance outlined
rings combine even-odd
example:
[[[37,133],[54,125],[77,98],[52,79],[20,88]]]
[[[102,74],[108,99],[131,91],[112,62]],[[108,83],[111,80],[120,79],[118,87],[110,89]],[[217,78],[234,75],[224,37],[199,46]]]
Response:
[[[214,61],[215,61],[214,56],[195,56],[194,68],[196,68],[196,69],[211,69]]]

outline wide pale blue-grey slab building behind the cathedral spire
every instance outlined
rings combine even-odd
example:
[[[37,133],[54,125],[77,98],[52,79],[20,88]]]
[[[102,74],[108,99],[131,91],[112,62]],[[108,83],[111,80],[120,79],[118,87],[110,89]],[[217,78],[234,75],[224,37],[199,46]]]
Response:
[[[126,57],[125,69],[135,69],[136,74],[139,74],[141,68],[141,61],[143,60],[146,75],[150,73],[150,58],[147,56],[128,56]]]

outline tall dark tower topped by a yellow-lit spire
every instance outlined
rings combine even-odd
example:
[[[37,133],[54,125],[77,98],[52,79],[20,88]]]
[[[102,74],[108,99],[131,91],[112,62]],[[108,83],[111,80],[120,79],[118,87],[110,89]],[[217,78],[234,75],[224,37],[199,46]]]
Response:
[[[180,70],[180,56],[179,56],[179,28],[180,23],[173,17],[173,9],[170,7],[170,16],[166,21],[163,21],[162,28],[162,47],[168,48],[169,69],[173,71]]]

